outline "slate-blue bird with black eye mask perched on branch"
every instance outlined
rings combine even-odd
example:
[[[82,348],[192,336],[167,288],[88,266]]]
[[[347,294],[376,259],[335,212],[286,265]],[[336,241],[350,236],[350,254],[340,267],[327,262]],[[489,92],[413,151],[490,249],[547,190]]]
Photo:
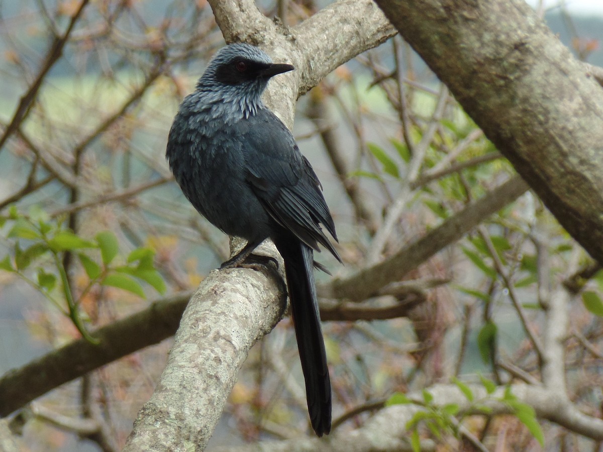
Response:
[[[166,158],[201,215],[247,245],[222,267],[240,265],[270,238],[285,275],[306,381],[312,428],[331,428],[331,386],[314,282],[313,251],[322,245],[341,262],[321,225],[335,225],[312,166],[260,99],[271,77],[292,71],[248,44],[220,49],[186,96],[169,131]]]

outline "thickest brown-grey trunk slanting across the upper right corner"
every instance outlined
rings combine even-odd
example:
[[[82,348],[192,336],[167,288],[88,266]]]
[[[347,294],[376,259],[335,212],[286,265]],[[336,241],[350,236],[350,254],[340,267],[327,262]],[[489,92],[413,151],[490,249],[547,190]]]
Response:
[[[603,262],[603,90],[523,0],[376,0],[578,242]]]

